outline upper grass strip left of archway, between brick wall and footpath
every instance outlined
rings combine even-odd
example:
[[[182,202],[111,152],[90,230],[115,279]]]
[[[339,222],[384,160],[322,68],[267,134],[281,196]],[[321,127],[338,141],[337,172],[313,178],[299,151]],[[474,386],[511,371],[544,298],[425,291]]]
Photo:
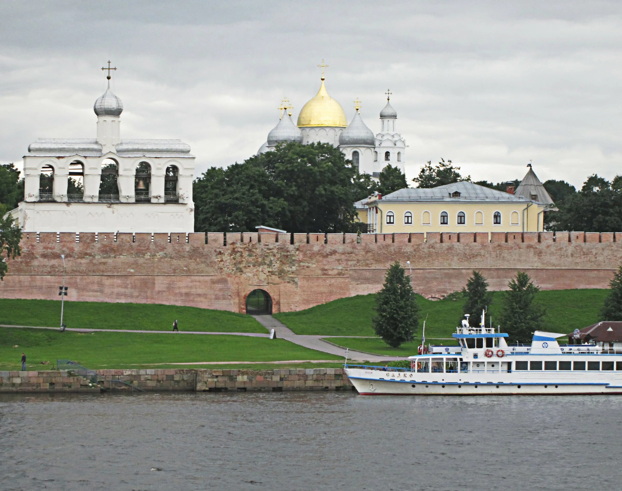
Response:
[[[266,332],[266,328],[249,315],[178,305],[65,302],[63,313],[67,327],[86,329],[171,331],[175,319],[182,331]],[[0,324],[58,327],[60,300],[0,298]]]

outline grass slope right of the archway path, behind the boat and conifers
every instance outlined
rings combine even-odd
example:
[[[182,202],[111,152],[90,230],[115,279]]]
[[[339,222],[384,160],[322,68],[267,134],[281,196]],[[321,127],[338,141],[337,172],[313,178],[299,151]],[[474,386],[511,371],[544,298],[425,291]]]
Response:
[[[598,312],[608,292],[609,290],[593,289],[538,292],[536,302],[547,309],[544,330],[569,333],[575,328],[587,327],[598,322],[600,320]],[[504,292],[493,292],[493,303],[488,309],[486,318],[487,325],[491,319],[493,325],[496,325],[503,306],[503,296]],[[417,295],[417,302],[421,316],[417,337],[421,335],[421,326],[427,315],[425,337],[450,338],[462,318],[462,298],[432,301]],[[274,317],[297,334],[374,336],[371,325],[374,305],[374,294],[357,295],[340,298],[300,312],[277,313]],[[503,331],[503,326],[501,330]]]

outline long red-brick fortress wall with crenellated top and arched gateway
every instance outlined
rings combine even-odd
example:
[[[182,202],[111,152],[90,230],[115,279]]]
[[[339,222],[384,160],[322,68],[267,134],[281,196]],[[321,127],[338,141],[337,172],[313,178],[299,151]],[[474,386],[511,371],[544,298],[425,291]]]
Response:
[[[386,269],[411,262],[424,297],[462,289],[473,269],[491,290],[518,270],[544,290],[606,288],[622,262],[622,233],[114,234],[25,232],[0,297],[192,305],[245,312],[262,288],[274,312],[377,292]]]

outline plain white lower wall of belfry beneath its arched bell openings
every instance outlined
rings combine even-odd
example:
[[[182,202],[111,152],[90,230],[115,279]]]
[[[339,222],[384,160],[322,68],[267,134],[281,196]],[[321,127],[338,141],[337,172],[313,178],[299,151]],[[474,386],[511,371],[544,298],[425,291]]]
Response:
[[[26,203],[17,209],[24,232],[193,232],[190,204]]]

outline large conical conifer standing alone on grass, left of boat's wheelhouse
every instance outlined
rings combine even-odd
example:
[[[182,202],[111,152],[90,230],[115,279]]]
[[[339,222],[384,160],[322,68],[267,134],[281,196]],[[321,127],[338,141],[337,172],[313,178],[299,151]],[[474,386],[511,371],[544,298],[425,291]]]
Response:
[[[412,291],[411,277],[399,262],[389,267],[382,290],[376,295],[374,331],[391,348],[412,341],[419,325],[419,306]]]

